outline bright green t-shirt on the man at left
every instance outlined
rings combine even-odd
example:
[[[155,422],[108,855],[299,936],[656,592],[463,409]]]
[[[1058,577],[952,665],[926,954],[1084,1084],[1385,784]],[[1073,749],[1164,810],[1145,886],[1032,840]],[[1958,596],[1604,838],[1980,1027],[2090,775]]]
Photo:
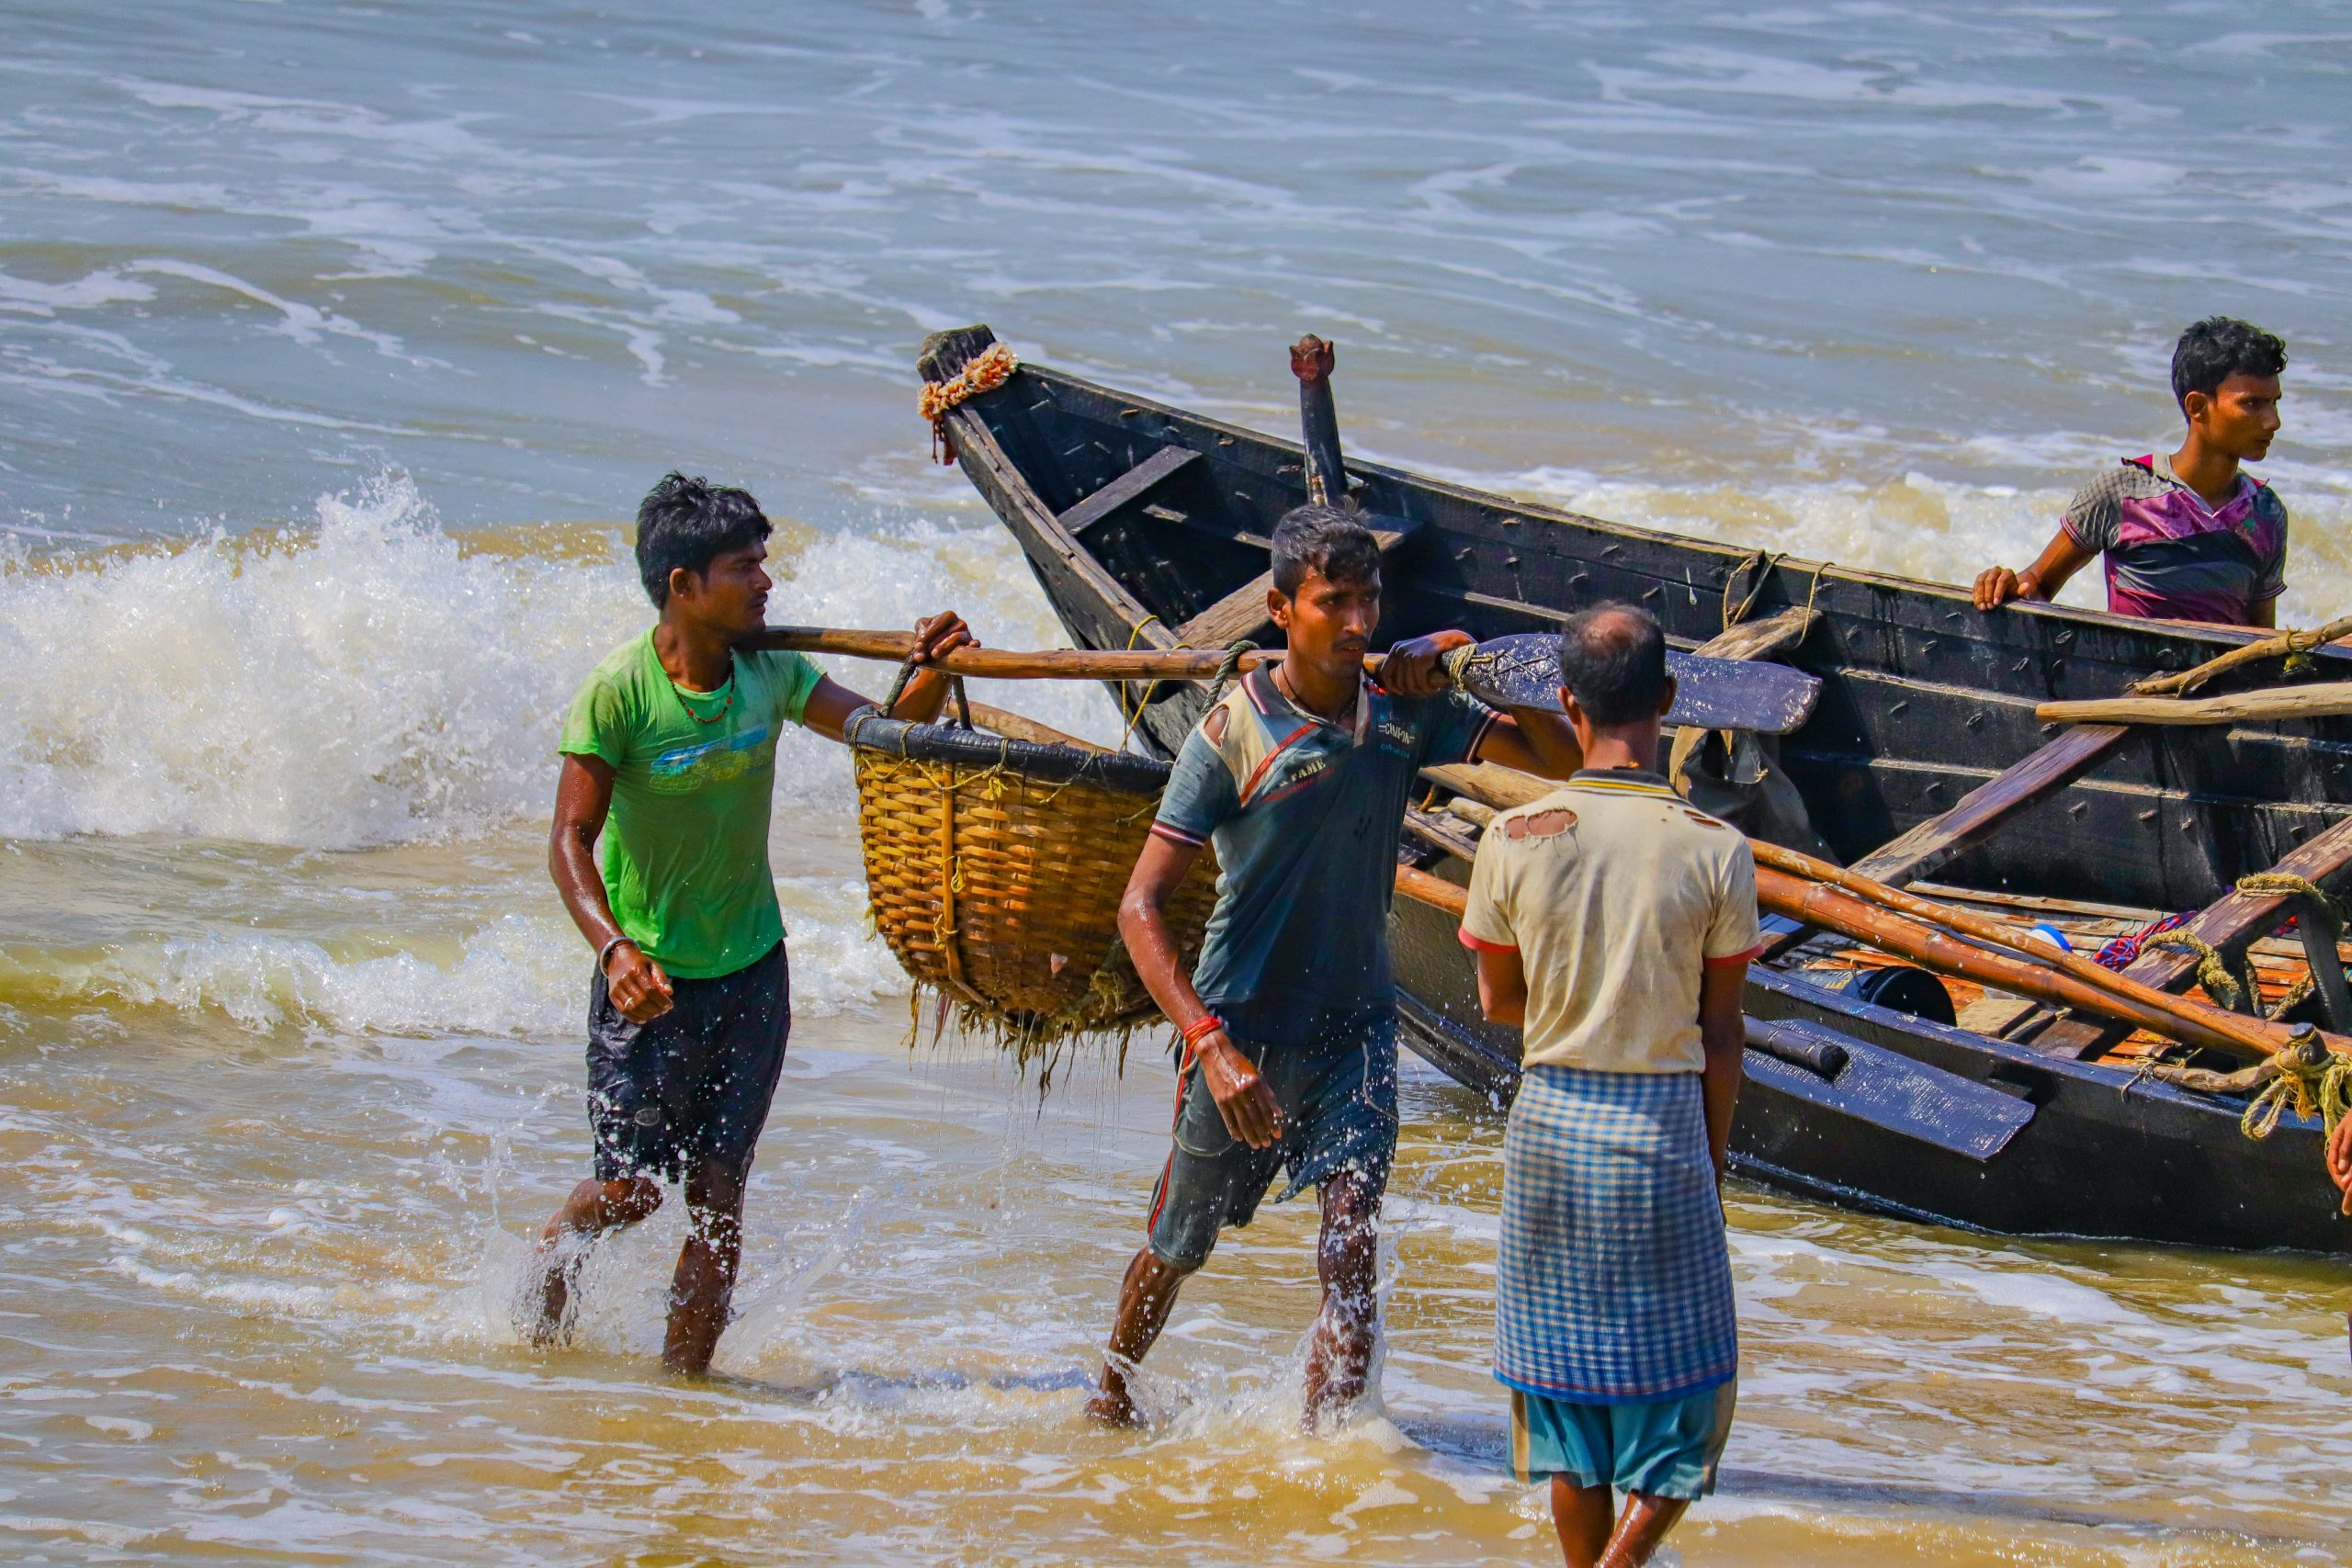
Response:
[[[736,654],[731,684],[687,691],[661,668],[647,628],[572,698],[557,750],[614,769],[612,917],[677,978],[731,976],[783,940],[767,870],[776,736],[800,724],[816,682],[800,654]]]

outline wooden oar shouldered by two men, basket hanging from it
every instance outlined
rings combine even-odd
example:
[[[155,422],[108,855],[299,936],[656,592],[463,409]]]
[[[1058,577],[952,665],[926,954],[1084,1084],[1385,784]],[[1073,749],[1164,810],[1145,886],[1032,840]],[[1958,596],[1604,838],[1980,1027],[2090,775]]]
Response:
[[[746,649],[790,649],[795,654],[842,654],[849,658],[884,658],[903,663],[915,651],[915,632],[861,632],[826,625],[769,625],[741,642]],[[1381,672],[1385,656],[1371,654],[1364,668]],[[1282,651],[1247,651],[1235,670],[1279,663]],[[1449,661],[1451,663],[1451,661]],[[1736,658],[1670,654],[1679,689],[1675,724],[1705,729],[1752,729],[1780,736],[1804,724],[1813,712],[1820,682],[1783,665]],[[929,670],[993,679],[1214,679],[1225,668],[1223,649],[955,649],[946,658],[924,661]],[[1461,663],[1461,682],[1472,696],[1498,708],[1559,705],[1559,639],[1543,632],[1496,637],[1477,644]]]

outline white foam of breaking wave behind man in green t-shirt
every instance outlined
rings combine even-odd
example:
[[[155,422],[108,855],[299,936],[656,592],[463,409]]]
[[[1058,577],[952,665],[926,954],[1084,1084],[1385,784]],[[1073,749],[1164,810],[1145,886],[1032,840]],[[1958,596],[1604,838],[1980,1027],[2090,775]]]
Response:
[[[318,524],[66,562],[0,557],[0,837],[169,832],[306,849],[466,832],[546,809],[562,710],[649,618],[621,531],[560,555],[468,550],[405,477]],[[1063,642],[1011,541],[927,527],[776,538],[771,618],[908,625],[955,602],[997,644]],[[835,665],[880,693],[889,665]],[[1101,736],[1091,689],[990,691]],[[1115,733],[1115,731],[1112,731]],[[790,738],[816,799],[823,743]]]

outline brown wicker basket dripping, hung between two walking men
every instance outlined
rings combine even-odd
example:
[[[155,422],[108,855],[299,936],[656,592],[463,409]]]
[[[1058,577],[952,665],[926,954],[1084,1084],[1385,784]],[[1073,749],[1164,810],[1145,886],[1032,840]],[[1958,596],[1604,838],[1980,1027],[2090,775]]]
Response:
[[[1025,1060],[1160,1016],[1120,940],[1120,896],[1169,769],[868,710],[849,722],[875,929],[898,964]],[[1216,905],[1214,856],[1167,917],[1183,961]]]

